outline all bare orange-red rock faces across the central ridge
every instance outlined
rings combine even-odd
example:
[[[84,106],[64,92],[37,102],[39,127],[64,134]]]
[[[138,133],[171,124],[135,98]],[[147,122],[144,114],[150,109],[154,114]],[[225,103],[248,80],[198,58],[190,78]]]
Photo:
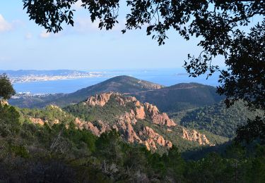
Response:
[[[92,122],[85,122],[76,118],[76,125],[78,128],[91,130],[91,132],[97,136],[100,136],[103,132],[114,129],[122,134],[124,140],[129,143],[144,144],[148,150],[158,149],[158,146],[167,149],[172,147],[172,142],[163,137],[162,134],[155,132],[151,126],[158,125],[160,127],[165,127],[167,129],[166,132],[170,133],[172,130],[174,131],[177,125],[166,113],[160,113],[158,108],[151,103],[141,103],[134,96],[124,96],[119,93],[110,92],[90,96],[83,105],[104,107],[108,101],[110,101],[111,97],[113,97],[117,105],[120,106],[126,106],[130,103],[130,110],[124,112],[124,115],[117,116],[114,125],[110,125],[107,121],[98,121],[98,124],[95,125]],[[142,120],[151,122],[151,126],[142,125],[140,130],[139,128],[136,130],[135,126],[139,125]],[[212,145],[204,134],[200,134],[195,130],[189,132],[189,130],[183,129],[182,133],[183,139],[196,141],[200,145]]]

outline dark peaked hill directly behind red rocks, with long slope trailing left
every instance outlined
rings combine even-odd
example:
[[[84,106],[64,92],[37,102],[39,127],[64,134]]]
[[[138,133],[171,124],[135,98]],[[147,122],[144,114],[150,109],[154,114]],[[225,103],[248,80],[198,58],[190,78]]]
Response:
[[[102,92],[132,93],[147,90],[160,89],[163,86],[152,82],[139,80],[126,75],[112,77],[105,82],[100,82],[90,87],[80,89],[71,94],[51,94],[49,96],[25,96],[19,99],[10,99],[8,102],[21,108],[44,108],[49,104],[67,106],[70,103],[78,103],[88,96]]]

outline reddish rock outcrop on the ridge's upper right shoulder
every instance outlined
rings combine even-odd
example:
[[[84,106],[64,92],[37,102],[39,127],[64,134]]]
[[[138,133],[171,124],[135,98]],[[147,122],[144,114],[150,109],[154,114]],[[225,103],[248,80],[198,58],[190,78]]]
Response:
[[[156,106],[153,106],[150,103],[144,103],[146,111],[151,114],[151,119],[156,125],[167,125],[167,127],[176,126],[173,120],[170,120],[166,113],[160,113]]]

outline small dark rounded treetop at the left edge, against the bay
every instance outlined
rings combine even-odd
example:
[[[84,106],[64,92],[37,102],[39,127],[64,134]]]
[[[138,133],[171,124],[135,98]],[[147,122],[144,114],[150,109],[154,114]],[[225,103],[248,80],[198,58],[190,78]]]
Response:
[[[13,89],[11,81],[5,74],[0,75],[0,99],[10,99],[14,94],[16,94],[16,92]]]

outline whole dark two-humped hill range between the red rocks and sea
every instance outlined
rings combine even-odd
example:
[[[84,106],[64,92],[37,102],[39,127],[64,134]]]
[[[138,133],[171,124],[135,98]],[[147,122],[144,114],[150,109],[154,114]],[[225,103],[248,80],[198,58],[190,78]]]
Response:
[[[171,87],[139,80],[129,76],[113,77],[71,94],[54,94],[48,96],[25,96],[10,99],[13,106],[22,108],[43,108],[49,104],[67,106],[78,103],[88,96],[103,92],[119,92],[136,96],[141,102],[153,103],[163,112],[182,111],[218,103],[223,97],[216,94],[216,88],[198,83],[182,83]]]

